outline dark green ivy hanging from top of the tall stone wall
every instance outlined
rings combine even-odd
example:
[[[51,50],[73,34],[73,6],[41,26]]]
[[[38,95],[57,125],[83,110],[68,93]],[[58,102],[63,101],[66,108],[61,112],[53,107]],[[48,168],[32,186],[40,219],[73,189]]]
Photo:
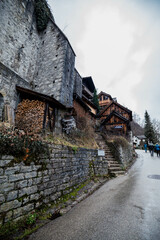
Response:
[[[53,15],[46,0],[35,0],[35,15],[37,30],[38,32],[42,32],[46,29],[49,19],[53,19]]]

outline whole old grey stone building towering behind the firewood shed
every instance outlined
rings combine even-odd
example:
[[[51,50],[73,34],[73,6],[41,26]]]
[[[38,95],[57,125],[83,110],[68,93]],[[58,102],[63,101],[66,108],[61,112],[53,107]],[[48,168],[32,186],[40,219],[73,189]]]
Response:
[[[73,107],[74,93],[82,97],[74,50],[53,16],[38,31],[36,2],[45,1],[0,1],[0,121],[11,124],[21,101],[16,86],[49,96],[66,108]],[[64,111],[55,108],[60,121]]]

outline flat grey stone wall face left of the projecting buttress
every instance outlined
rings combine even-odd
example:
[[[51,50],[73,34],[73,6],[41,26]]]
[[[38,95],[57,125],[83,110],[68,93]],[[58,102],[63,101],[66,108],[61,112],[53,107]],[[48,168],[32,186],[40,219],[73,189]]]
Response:
[[[0,62],[32,81],[40,38],[33,0],[0,1]]]

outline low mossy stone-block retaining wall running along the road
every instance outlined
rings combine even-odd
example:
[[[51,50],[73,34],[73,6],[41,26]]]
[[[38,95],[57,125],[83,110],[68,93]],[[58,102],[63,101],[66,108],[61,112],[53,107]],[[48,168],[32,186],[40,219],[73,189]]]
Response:
[[[0,159],[0,223],[24,217],[79,185],[90,175],[108,173],[107,161],[97,150],[51,146],[50,159],[29,166],[14,163],[12,156]]]

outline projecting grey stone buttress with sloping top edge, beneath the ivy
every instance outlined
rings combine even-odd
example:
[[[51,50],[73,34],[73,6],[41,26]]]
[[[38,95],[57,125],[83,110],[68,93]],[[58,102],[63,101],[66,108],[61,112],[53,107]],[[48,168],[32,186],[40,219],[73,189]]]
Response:
[[[52,21],[41,34],[36,64],[35,90],[72,106],[75,54],[65,35]]]

